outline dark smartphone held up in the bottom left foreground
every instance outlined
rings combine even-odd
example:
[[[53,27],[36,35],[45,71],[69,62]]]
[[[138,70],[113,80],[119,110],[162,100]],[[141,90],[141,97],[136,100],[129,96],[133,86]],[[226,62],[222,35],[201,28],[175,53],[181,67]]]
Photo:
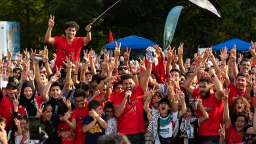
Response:
[[[30,139],[40,139],[40,118],[29,117],[28,121],[30,122]]]

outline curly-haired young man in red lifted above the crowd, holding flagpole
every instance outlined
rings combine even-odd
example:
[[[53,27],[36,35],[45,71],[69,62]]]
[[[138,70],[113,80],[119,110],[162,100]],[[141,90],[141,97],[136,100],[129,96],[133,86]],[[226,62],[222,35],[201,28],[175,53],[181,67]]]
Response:
[[[79,60],[81,48],[91,41],[91,25],[89,24],[85,28],[87,33],[86,37],[75,37],[79,26],[74,21],[66,23],[64,27],[66,37],[51,37],[53,26],[54,16],[51,15],[48,22],[48,29],[45,33],[45,41],[56,46],[57,57],[53,67],[53,70],[56,70],[56,66],[58,66],[58,68],[64,66],[62,61],[66,61],[66,56],[74,61]]]

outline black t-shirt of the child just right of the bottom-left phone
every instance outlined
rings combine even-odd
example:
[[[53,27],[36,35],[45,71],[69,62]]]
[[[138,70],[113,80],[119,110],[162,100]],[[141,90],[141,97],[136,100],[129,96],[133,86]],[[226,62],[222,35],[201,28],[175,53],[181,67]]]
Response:
[[[45,131],[48,135],[47,141],[45,143],[61,143],[60,138],[57,133],[57,124],[60,122],[60,117],[53,116],[50,121],[41,121],[41,130]]]

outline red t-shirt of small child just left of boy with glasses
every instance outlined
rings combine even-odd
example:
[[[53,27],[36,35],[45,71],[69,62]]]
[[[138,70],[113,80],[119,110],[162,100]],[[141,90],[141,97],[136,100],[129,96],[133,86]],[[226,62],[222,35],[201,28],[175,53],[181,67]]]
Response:
[[[60,124],[58,124],[57,130],[60,133],[60,138],[61,138],[62,144],[74,144],[75,143],[74,135],[72,135],[73,130],[70,130],[70,127],[68,126],[68,124],[66,124],[66,122],[63,121]]]

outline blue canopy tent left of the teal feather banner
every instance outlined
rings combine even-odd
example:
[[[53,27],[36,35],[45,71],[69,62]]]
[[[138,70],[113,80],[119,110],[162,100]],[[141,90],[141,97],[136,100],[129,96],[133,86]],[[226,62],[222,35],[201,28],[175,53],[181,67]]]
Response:
[[[116,42],[118,45],[119,43],[121,43],[121,49],[126,48],[126,46],[132,49],[130,54],[132,60],[139,60],[139,57],[142,58],[143,56],[145,56],[145,49],[148,46],[157,45],[156,43],[143,37],[131,35],[129,37],[124,37],[112,43],[108,43],[107,45],[105,45],[105,49],[113,50],[114,48],[116,48]]]

